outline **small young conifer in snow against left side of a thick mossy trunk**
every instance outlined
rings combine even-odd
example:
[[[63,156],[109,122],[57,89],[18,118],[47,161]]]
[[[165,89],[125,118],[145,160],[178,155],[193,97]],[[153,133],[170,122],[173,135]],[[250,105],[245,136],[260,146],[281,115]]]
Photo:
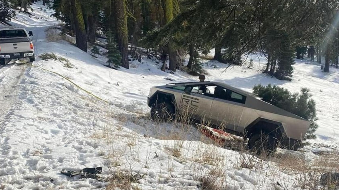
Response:
[[[114,66],[121,66],[121,52],[118,49],[118,45],[115,42],[114,35],[111,31],[107,32],[107,44],[106,49],[108,50],[107,58],[108,58],[108,65],[112,67]]]

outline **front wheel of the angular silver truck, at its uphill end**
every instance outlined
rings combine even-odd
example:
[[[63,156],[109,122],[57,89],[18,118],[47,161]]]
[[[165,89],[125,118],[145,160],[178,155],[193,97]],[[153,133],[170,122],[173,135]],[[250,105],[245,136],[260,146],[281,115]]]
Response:
[[[151,118],[156,122],[172,120],[174,116],[173,105],[169,102],[155,103],[151,108]]]

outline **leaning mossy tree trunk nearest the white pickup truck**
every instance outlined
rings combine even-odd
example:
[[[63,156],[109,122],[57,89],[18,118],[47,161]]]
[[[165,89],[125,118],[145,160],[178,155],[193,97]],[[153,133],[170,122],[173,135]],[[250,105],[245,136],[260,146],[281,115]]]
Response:
[[[76,46],[87,52],[86,30],[82,16],[81,6],[78,0],[71,0],[76,33]]]

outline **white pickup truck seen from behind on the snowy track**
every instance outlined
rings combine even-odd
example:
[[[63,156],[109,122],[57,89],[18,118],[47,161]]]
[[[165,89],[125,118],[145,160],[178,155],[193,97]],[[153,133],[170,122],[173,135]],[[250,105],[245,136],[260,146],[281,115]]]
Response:
[[[0,28],[0,65],[5,65],[5,60],[20,58],[35,61],[30,36],[33,36],[33,32],[27,33],[24,28]]]

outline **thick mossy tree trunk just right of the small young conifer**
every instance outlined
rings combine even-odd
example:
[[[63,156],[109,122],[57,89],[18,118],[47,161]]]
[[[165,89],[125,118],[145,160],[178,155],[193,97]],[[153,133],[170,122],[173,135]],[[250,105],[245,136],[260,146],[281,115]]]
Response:
[[[121,52],[121,66],[129,69],[128,65],[128,31],[125,0],[115,0],[116,32],[119,50]]]

